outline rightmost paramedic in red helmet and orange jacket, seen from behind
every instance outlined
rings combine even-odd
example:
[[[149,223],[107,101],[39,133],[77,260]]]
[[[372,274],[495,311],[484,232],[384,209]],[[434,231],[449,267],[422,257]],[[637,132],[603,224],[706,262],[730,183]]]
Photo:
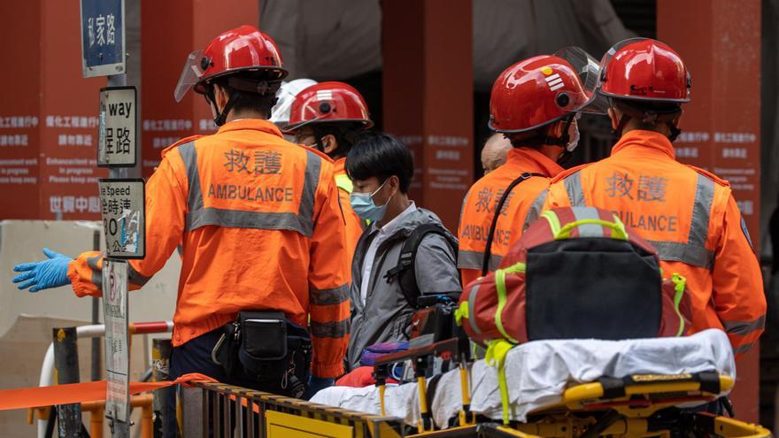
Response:
[[[598,94],[621,139],[611,157],[555,178],[544,209],[613,211],[659,251],[665,276],[687,279],[693,330],[721,328],[743,354],[765,325],[760,265],[728,181],[675,160],[681,104],[690,101],[682,58],[662,42],[627,40],[609,50],[601,72]]]

